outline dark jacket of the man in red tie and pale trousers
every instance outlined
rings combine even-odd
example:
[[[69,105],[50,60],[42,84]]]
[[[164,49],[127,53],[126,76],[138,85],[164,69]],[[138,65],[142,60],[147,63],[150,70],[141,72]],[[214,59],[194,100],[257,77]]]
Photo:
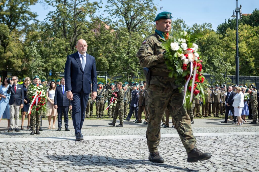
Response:
[[[9,103],[10,105],[13,105],[15,102],[16,105],[24,104],[24,90],[23,85],[17,84],[16,92],[14,85],[12,87],[9,86],[8,90],[6,91],[8,94],[11,93]]]

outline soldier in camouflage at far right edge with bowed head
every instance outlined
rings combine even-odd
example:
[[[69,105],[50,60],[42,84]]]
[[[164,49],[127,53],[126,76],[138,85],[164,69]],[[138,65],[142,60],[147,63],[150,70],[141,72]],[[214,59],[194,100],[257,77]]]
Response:
[[[249,103],[251,103],[251,109],[252,109],[252,114],[253,114],[253,122],[249,122],[249,124],[257,124],[256,123],[256,119],[257,119],[257,106],[258,106],[258,102],[257,102],[257,92],[254,92],[252,90],[252,88],[256,87],[249,87],[249,91],[247,93],[250,92],[250,96],[249,96]]]

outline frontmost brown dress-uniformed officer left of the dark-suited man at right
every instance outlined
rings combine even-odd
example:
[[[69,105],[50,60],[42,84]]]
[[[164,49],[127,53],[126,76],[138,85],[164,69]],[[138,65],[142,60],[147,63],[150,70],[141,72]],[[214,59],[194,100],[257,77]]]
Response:
[[[221,91],[218,89],[219,85],[216,84],[215,88],[212,90],[211,93],[211,101],[213,104],[213,116],[219,117],[219,110],[220,110],[220,103],[222,103],[221,100]]]

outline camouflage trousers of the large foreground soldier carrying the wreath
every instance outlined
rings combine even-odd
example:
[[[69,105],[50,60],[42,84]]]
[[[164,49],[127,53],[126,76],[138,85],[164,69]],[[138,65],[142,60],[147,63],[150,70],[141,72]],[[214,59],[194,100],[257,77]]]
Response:
[[[147,91],[148,106],[148,126],[147,126],[147,145],[149,152],[157,152],[160,142],[160,124],[166,108],[169,110],[175,121],[175,128],[181,138],[186,152],[191,152],[196,148],[196,138],[192,134],[191,120],[182,106],[183,93],[179,89],[157,87],[149,85]]]

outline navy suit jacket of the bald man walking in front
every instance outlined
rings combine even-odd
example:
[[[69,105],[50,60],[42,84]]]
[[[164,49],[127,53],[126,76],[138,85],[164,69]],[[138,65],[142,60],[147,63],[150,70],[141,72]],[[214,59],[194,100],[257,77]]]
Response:
[[[68,55],[65,64],[66,91],[71,90],[72,93],[79,93],[83,89],[83,92],[88,94],[91,93],[91,83],[92,91],[97,92],[95,58],[86,54],[86,63],[83,70],[78,52]]]

